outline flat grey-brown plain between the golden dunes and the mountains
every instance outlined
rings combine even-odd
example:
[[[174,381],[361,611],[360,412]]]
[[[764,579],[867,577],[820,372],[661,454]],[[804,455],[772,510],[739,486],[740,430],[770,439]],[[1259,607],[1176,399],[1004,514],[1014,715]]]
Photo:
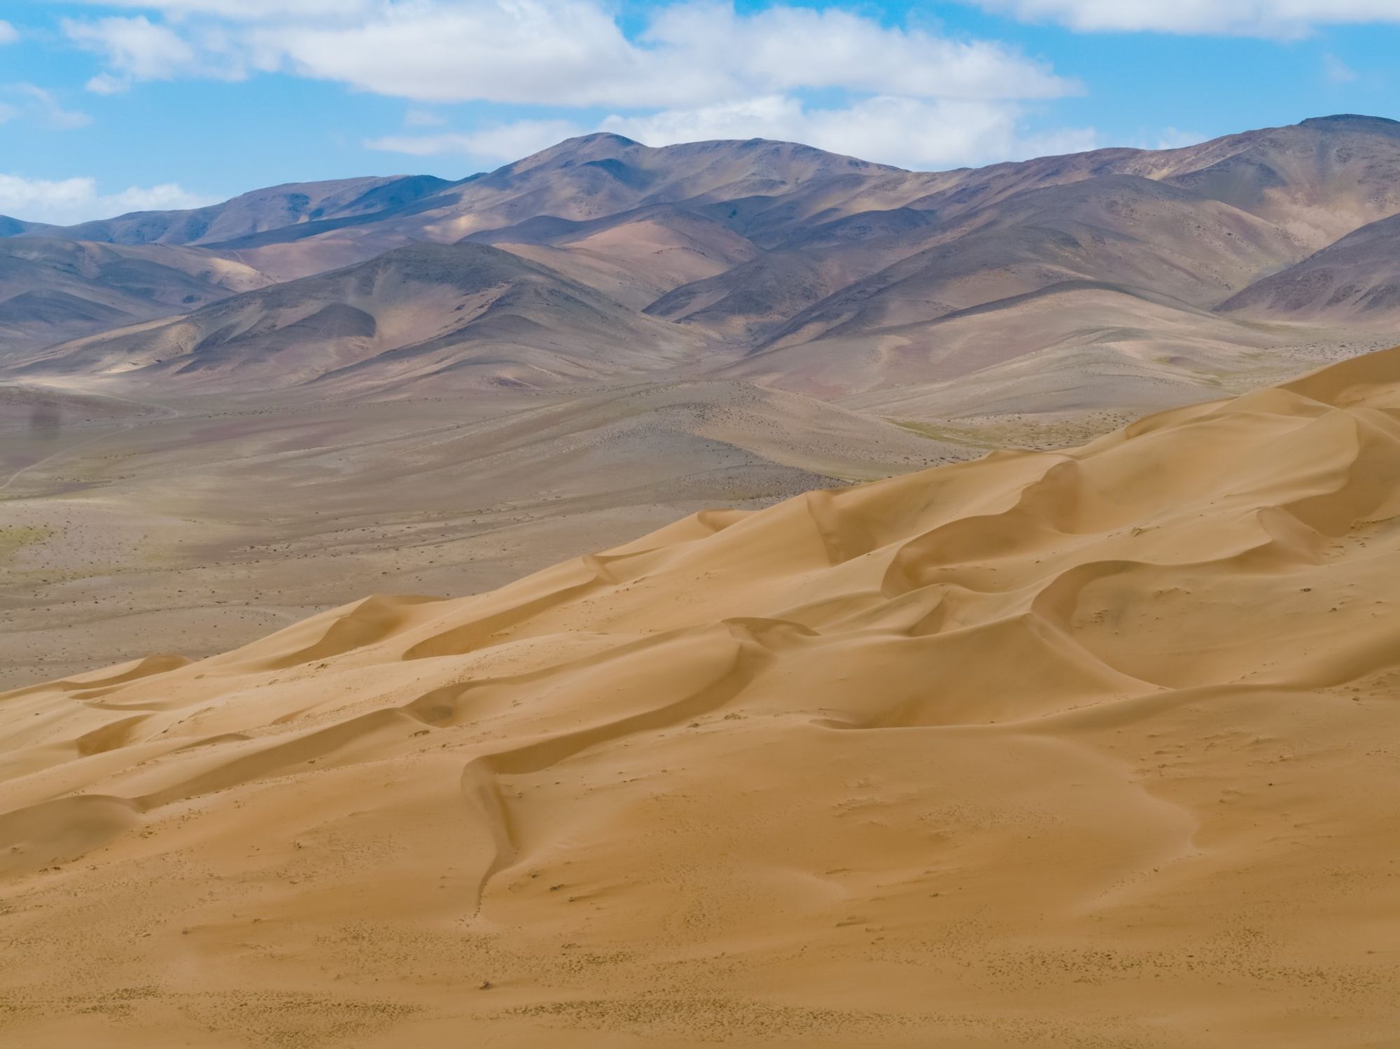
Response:
[[[0,690],[154,637],[209,655],[367,587],[491,590],[707,506],[980,452],[742,382],[144,410],[0,385]]]

